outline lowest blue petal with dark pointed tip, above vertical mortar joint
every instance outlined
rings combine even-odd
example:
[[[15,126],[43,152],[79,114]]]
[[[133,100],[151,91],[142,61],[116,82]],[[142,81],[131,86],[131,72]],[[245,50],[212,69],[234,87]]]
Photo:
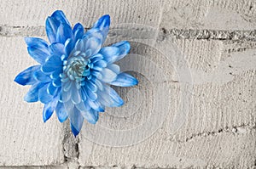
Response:
[[[80,111],[75,107],[73,108],[73,110],[68,112],[68,117],[72,126],[73,134],[76,136],[79,134],[83,126],[84,117],[81,115]]]

